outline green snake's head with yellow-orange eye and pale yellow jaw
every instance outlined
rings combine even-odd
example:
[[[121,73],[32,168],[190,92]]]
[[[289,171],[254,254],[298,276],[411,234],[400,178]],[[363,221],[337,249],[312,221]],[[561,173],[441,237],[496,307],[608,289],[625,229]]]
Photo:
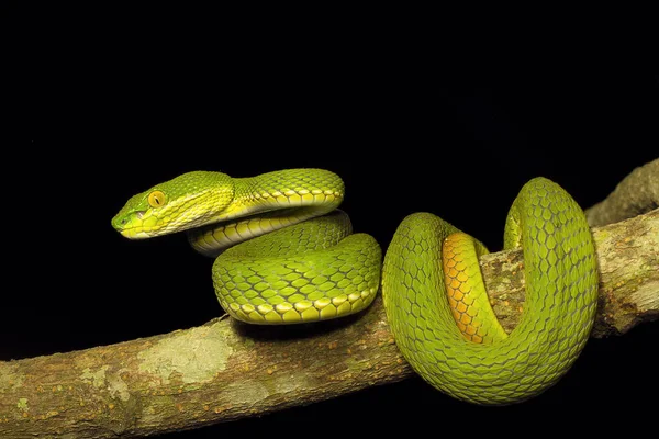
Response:
[[[214,222],[233,201],[232,178],[193,171],[132,196],[112,218],[112,227],[130,239],[144,239]]]

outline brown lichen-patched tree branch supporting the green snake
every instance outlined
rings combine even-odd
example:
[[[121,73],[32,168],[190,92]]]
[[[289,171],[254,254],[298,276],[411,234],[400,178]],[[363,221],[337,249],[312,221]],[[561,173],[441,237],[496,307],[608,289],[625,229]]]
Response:
[[[608,205],[627,210],[621,202]],[[595,228],[593,236],[601,283],[592,335],[624,334],[658,318],[659,210]],[[481,260],[506,330],[524,306],[522,263],[518,249]],[[109,438],[198,428],[412,373],[380,297],[359,316],[313,325],[258,327],[219,318],[118,345],[0,362],[0,437]]]

